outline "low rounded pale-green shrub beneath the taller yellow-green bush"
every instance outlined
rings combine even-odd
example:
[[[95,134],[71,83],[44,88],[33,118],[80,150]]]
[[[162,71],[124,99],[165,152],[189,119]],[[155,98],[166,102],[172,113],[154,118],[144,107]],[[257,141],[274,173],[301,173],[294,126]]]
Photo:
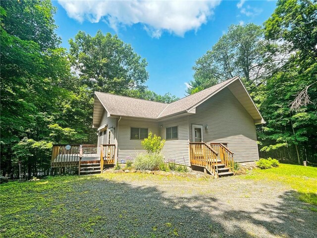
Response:
[[[139,154],[134,162],[134,168],[136,170],[159,170],[159,166],[163,162],[163,156],[158,153]]]

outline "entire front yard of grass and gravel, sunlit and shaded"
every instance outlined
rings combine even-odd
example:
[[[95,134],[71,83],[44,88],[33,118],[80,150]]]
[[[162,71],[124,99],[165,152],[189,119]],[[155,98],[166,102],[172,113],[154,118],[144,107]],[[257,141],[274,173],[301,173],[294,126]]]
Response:
[[[0,186],[0,237],[310,238],[316,193],[317,168],[294,165],[221,179],[107,173],[9,182]]]

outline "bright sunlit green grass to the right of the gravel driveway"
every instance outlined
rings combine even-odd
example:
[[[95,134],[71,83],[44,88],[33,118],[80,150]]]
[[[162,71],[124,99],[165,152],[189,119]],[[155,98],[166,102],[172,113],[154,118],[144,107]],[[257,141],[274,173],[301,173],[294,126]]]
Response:
[[[280,181],[296,190],[302,201],[317,205],[317,168],[280,164],[278,168],[254,170],[241,178]]]

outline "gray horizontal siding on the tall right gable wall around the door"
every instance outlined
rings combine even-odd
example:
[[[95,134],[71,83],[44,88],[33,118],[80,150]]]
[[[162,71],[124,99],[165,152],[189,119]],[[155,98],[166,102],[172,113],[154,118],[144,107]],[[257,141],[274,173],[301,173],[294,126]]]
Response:
[[[198,106],[196,114],[189,116],[189,121],[191,141],[192,124],[208,125],[208,129],[203,129],[205,142],[228,143],[235,161],[259,160],[254,119],[228,88]]]

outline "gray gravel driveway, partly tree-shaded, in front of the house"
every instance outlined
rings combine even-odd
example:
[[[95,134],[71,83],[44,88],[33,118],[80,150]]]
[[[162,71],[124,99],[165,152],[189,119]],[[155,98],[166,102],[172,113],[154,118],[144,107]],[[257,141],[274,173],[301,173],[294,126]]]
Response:
[[[91,229],[86,237],[317,237],[317,213],[279,182],[143,174],[84,180],[65,202],[70,237],[82,236],[72,228],[78,213]]]

